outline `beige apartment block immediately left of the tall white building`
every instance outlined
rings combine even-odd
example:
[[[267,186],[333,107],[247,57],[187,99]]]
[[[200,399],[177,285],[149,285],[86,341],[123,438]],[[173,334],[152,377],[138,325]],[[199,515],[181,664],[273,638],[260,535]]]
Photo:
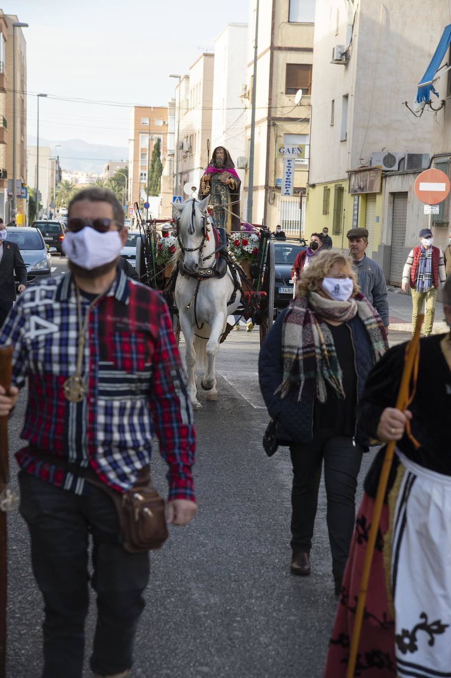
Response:
[[[207,166],[207,139],[211,139],[213,106],[213,68],[215,56],[201,54],[182,77],[175,92],[175,125],[179,130],[175,148],[175,188],[187,197],[185,184],[199,187]],[[177,140],[176,140],[177,145]],[[178,156],[178,157],[177,157]]]

